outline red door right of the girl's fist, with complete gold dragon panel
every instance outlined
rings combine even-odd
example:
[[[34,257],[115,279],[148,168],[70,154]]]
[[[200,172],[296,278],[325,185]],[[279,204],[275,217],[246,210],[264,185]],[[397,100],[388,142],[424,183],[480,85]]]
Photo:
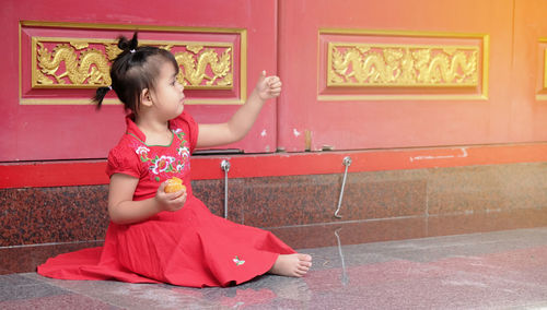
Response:
[[[520,112],[511,103],[520,84],[511,80],[512,0],[280,0],[279,8],[279,147],[531,138],[508,126]]]

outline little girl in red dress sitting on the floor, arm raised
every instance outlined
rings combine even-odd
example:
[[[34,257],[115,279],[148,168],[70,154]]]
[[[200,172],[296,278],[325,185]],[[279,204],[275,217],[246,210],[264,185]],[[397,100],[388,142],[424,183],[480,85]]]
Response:
[[[101,107],[114,90],[130,115],[127,131],[110,150],[110,225],[104,247],[60,254],[38,266],[44,276],[118,279],[203,287],[241,284],[265,273],[300,277],[312,265],[271,233],[213,215],[194,196],[189,156],[196,147],[241,140],[265,100],[281,92],[277,76],[261,76],[226,123],[197,124],[184,112],[183,85],[174,56],[138,47],[120,37],[112,86],[97,90]],[[183,179],[186,190],[166,193],[166,180]]]

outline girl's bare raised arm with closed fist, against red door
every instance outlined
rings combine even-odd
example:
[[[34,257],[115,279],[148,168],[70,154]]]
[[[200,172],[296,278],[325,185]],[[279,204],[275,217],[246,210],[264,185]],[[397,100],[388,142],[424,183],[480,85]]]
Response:
[[[224,145],[242,140],[255,123],[264,103],[280,93],[279,78],[266,76],[266,71],[263,71],[247,102],[228,122],[199,124],[197,147]]]

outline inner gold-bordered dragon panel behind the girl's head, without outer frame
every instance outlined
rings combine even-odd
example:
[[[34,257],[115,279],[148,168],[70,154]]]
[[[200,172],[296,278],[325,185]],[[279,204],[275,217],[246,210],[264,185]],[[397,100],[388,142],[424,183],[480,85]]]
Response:
[[[166,49],[181,68],[187,90],[230,90],[233,86],[233,44],[140,41]],[[32,38],[33,88],[85,88],[110,85],[110,63],[121,52],[116,40]]]

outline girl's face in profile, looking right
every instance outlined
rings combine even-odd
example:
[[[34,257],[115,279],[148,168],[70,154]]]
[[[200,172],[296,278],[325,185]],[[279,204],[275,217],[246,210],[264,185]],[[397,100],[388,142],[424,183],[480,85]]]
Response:
[[[174,119],[184,110],[184,86],[176,80],[173,63],[164,61],[161,64],[160,76],[151,91],[152,103],[159,115],[165,120]]]

